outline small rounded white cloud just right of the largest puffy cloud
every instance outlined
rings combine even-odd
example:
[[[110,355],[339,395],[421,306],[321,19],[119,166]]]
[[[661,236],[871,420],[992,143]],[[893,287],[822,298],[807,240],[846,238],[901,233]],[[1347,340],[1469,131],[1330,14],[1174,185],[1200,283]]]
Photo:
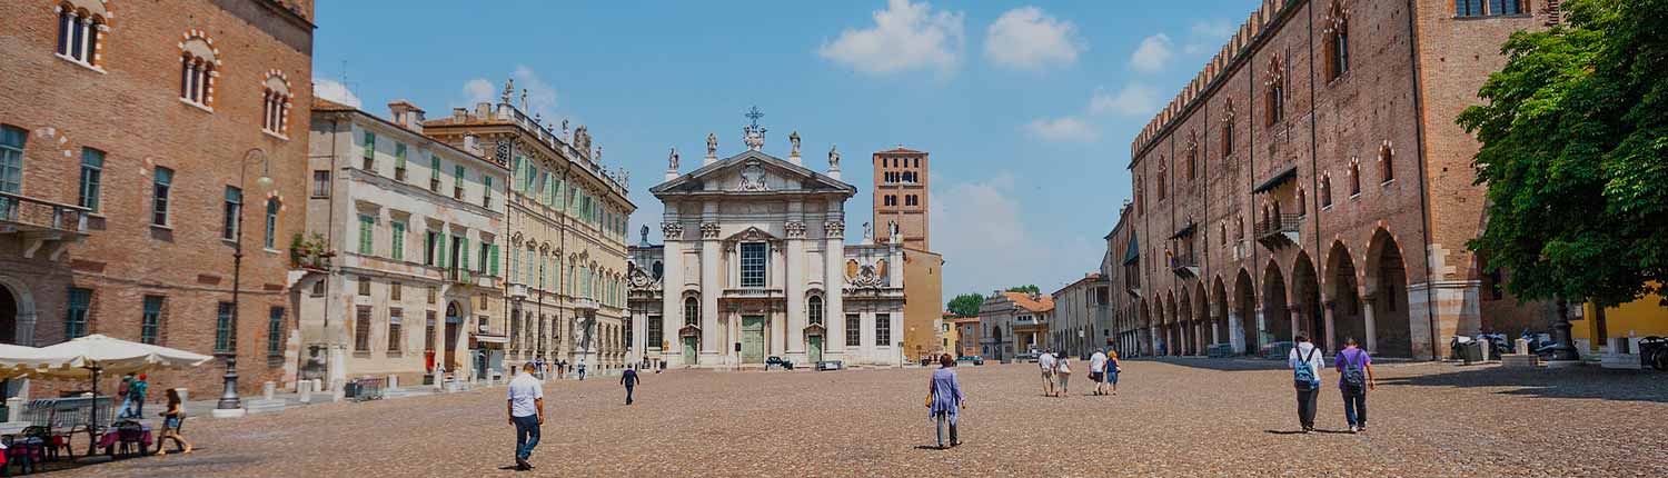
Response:
[[[984,55],[992,63],[1017,70],[1071,65],[1084,50],[1088,47],[1078,37],[1076,25],[1056,20],[1037,7],[1007,10],[991,23],[984,37]]]

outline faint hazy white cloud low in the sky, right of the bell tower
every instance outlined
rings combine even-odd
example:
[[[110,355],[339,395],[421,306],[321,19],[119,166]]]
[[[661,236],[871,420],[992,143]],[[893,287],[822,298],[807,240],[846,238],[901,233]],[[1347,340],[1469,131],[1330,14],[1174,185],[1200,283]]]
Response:
[[[1098,238],[1044,238],[1046,215],[1026,210],[1016,178],[949,182],[932,193],[932,246],[944,255],[944,296],[1036,283],[1044,293],[1101,263]]]

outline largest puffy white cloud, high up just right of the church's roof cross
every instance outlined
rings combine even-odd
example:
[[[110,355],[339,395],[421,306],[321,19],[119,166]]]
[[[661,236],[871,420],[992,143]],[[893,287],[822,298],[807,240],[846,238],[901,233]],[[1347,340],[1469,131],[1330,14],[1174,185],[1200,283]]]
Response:
[[[862,73],[894,73],[936,68],[949,75],[961,63],[961,12],[932,12],[932,5],[889,0],[886,10],[874,12],[872,28],[847,28],[834,42],[822,42],[822,58]]]

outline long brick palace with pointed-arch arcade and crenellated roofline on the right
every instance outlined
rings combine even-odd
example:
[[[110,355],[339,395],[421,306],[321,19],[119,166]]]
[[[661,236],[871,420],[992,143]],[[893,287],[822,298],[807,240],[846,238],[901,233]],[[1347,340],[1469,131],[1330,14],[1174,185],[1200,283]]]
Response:
[[[1485,192],[1454,125],[1546,3],[1264,0],[1131,145],[1134,328],[1168,353],[1301,333],[1433,358],[1548,323],[1466,250]]]

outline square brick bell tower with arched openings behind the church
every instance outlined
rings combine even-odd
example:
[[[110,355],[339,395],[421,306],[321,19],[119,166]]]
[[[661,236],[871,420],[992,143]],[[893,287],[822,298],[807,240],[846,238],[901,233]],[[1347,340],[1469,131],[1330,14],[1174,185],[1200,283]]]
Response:
[[[891,240],[897,222],[904,246],[932,250],[927,228],[927,153],[902,145],[874,153],[874,240]]]

